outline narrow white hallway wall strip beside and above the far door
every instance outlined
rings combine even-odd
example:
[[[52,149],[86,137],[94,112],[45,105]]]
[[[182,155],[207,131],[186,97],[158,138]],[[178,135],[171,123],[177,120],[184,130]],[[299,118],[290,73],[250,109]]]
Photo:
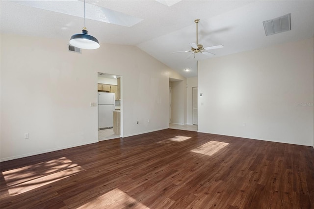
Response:
[[[193,124],[193,94],[192,88],[197,87],[197,77],[186,78],[186,123]]]

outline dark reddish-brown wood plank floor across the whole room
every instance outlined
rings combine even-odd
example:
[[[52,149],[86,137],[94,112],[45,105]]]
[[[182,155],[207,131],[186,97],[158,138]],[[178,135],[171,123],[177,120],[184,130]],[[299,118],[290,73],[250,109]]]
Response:
[[[0,163],[0,208],[313,209],[313,147],[167,129]]]

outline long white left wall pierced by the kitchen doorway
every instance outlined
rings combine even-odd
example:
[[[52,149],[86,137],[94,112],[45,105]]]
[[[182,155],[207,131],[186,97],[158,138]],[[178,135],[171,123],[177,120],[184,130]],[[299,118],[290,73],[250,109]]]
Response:
[[[123,78],[124,136],[168,128],[168,81],[177,73],[137,47],[102,44],[78,54],[67,44],[1,34],[1,161],[98,142],[90,107],[97,72]]]

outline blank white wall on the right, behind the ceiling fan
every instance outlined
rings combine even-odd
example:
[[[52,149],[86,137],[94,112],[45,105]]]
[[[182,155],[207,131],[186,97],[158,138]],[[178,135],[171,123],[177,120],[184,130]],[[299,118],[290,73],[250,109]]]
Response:
[[[313,49],[307,39],[199,61],[198,131],[312,146]]]

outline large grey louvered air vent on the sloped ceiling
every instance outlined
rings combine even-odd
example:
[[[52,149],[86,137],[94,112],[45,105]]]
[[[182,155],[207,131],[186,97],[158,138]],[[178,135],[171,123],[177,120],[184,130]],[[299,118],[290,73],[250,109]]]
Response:
[[[263,22],[266,36],[291,30],[290,14]]]

